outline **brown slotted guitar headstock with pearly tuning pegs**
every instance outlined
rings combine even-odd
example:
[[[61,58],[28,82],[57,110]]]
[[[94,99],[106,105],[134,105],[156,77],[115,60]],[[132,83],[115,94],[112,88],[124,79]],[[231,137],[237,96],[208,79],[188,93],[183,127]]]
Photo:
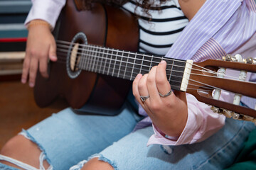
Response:
[[[209,104],[214,113],[256,124],[255,108],[240,106],[242,96],[256,98],[256,82],[248,81],[256,73],[256,60],[242,60],[240,55],[226,55],[222,60],[193,63],[186,92]],[[230,94],[232,101],[220,100]]]

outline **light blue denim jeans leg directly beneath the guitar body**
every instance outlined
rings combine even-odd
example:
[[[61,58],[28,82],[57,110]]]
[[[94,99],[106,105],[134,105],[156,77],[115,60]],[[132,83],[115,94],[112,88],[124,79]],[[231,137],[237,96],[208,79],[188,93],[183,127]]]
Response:
[[[132,132],[139,119],[128,107],[115,116],[78,115],[66,108],[28,129],[26,135],[45,152],[53,169],[69,169]]]

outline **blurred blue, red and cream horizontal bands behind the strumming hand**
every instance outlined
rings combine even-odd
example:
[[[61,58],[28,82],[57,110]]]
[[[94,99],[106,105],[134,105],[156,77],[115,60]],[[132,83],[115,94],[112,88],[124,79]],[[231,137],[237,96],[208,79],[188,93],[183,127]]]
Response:
[[[30,8],[30,0],[0,0],[0,75],[2,76],[14,77],[15,74],[21,74],[28,35],[23,23]]]

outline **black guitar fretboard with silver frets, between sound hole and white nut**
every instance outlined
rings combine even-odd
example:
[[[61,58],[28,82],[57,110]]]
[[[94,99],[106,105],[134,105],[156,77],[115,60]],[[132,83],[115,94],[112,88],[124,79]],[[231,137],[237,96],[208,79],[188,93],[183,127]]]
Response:
[[[186,61],[139,52],[85,45],[80,52],[78,68],[89,72],[134,80],[137,74],[146,74],[161,60],[167,63],[166,77],[174,90],[181,90]]]

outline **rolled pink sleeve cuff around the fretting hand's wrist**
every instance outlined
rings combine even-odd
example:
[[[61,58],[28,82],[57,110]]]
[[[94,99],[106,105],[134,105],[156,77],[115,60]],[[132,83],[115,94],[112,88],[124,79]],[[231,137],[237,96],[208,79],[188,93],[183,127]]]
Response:
[[[187,94],[188,120],[186,126],[179,137],[164,135],[161,130],[153,125],[154,135],[149,138],[148,145],[183,145],[201,142],[220,130],[225,124],[225,116],[213,113],[210,106],[197,101],[191,94]],[[222,99],[230,98],[223,94]]]

